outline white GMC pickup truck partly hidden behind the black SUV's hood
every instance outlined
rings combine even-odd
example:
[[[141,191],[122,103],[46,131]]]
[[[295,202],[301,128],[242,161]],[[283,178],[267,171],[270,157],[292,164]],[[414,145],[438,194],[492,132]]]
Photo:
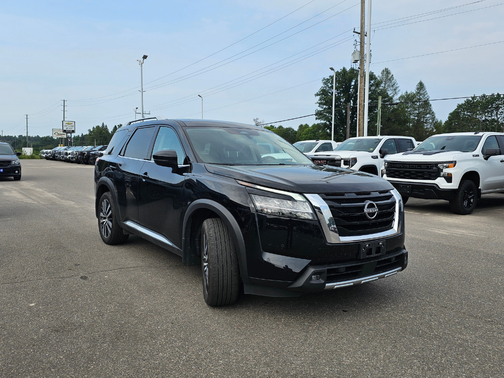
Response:
[[[318,165],[349,168],[381,176],[384,159],[415,148],[411,137],[357,137],[347,139],[333,151],[308,154]]]

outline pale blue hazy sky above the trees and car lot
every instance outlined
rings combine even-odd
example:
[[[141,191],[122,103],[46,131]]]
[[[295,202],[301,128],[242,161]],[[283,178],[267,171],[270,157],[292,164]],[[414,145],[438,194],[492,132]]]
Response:
[[[372,30],[383,28],[385,21],[473,2],[374,0]],[[140,107],[135,59],[143,54],[148,55],[144,107],[152,115],[199,118],[198,93],[210,119],[252,123],[255,117],[271,122],[311,114],[314,93],[321,78],[331,74],[329,67],[350,67],[358,3],[4,1],[0,129],[24,134],[22,117],[29,114],[29,134],[49,135],[61,125],[61,99],[68,100],[67,119],[76,121],[79,134],[102,121],[110,127],[128,122],[133,108]],[[377,63],[504,41],[499,27],[504,5],[498,4],[484,0],[372,32],[371,70],[389,67],[401,91],[413,90],[422,80],[431,98],[502,92],[498,69],[504,43]],[[477,10],[484,7],[491,8]],[[437,18],[460,12],[466,13]],[[430,18],[436,19],[424,21]],[[433,107],[445,120],[456,104],[437,101]],[[296,129],[314,121],[307,117],[282,124]]]

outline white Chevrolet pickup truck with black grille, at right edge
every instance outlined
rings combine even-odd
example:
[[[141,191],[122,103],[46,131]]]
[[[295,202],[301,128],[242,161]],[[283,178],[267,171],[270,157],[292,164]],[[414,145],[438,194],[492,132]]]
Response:
[[[504,133],[439,134],[385,159],[384,178],[403,197],[450,201],[471,214],[482,194],[504,193]]]

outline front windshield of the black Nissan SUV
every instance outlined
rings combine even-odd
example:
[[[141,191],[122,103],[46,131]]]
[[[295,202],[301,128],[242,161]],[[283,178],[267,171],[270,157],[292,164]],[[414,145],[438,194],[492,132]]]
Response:
[[[204,163],[226,165],[313,165],[290,143],[269,131],[187,128],[193,150]]]

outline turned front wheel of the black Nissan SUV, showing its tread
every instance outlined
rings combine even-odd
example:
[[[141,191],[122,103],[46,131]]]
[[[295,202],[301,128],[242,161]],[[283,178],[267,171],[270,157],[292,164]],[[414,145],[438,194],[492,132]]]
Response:
[[[238,256],[226,224],[220,218],[203,222],[201,229],[203,297],[210,306],[236,302],[239,293]]]

